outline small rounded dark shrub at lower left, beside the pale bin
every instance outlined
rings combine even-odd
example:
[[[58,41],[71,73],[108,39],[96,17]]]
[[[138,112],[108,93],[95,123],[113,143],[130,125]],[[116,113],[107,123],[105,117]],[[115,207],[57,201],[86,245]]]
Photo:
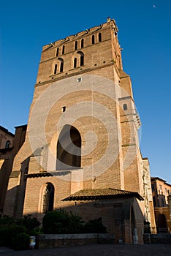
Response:
[[[30,236],[26,233],[18,233],[12,239],[12,247],[15,250],[29,249],[29,244],[30,244]]]

